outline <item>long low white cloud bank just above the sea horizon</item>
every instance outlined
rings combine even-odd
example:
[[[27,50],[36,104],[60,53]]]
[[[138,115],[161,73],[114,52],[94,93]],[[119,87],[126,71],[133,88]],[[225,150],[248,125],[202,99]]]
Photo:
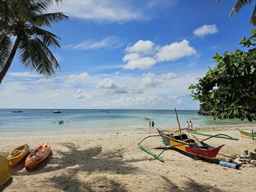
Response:
[[[181,105],[183,100],[179,96],[169,96],[166,99],[164,97],[122,97],[114,101],[99,101],[92,104],[92,107],[120,107],[120,106],[138,106],[138,105],[156,105],[156,104],[168,104],[168,105]]]

